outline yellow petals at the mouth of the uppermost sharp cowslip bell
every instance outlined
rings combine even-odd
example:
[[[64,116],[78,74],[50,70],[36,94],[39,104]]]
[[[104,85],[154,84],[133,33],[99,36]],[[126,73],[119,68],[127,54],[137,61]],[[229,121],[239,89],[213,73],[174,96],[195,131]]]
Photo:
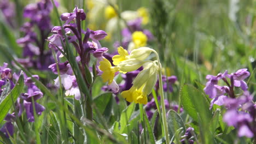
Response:
[[[129,53],[121,46],[118,47],[118,53],[119,55],[112,57],[114,65],[118,65],[120,62],[130,58]]]

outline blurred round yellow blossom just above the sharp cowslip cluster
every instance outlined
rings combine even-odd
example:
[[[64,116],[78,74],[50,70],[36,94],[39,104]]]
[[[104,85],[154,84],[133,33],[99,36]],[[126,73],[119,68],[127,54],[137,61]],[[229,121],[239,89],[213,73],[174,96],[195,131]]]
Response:
[[[135,44],[136,49],[138,47],[146,46],[147,45],[147,35],[141,31],[136,31],[132,33],[132,41]]]

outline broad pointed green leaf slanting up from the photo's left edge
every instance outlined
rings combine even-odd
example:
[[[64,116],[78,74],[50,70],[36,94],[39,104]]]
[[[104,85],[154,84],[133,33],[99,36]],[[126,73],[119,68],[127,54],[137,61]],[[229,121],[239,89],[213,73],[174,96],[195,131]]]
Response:
[[[0,103],[0,123],[3,121],[4,117],[7,115],[11,106],[20,96],[22,89],[24,87],[24,74],[21,72],[18,82],[11,92],[3,99]]]

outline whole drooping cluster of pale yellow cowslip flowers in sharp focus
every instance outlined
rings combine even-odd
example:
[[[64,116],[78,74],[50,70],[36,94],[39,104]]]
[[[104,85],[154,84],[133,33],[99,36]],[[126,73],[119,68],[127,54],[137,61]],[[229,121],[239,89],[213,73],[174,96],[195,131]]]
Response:
[[[155,62],[146,61],[151,52],[153,50],[148,47],[140,47],[132,50],[129,55],[123,47],[118,47],[119,55],[115,55],[112,58],[113,64],[116,65],[115,67],[106,58],[100,62],[100,70],[103,71],[101,75],[103,82],[108,82],[108,85],[110,85],[113,82],[115,73],[118,71],[127,73],[143,66],[143,70],[139,72],[133,81],[133,86],[129,90],[123,91],[121,95],[129,102],[147,104],[147,95],[151,93],[152,88],[155,86],[159,69],[158,64]]]

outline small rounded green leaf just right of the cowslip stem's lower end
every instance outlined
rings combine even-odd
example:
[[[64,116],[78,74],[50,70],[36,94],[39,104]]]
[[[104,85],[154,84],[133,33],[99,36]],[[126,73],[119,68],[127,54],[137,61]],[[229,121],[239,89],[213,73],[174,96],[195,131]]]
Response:
[[[181,116],[179,116],[179,114],[176,111],[170,110],[167,112],[167,123],[170,137],[172,137],[175,134],[175,132],[180,128],[186,130],[185,124]]]

